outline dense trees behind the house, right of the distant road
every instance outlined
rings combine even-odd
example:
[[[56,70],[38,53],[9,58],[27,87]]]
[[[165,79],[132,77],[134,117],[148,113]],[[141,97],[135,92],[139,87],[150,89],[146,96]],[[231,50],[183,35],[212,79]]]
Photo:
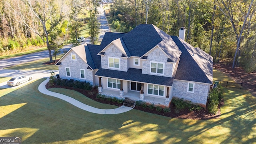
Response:
[[[254,0],[116,0],[108,15],[118,32],[154,24],[170,35],[186,28],[185,41],[214,58],[256,70]]]

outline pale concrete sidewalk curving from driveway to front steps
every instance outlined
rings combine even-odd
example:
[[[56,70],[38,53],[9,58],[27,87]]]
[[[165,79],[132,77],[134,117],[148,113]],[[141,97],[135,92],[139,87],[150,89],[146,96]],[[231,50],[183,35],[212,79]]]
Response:
[[[62,100],[65,100],[66,102],[69,102],[70,104],[82,109],[82,110],[86,110],[88,112],[92,112],[95,114],[121,114],[123,112],[128,112],[129,110],[132,110],[133,108],[127,107],[127,106],[121,106],[119,108],[115,108],[115,109],[99,109],[99,108],[94,108],[92,106],[88,106],[86,104],[83,104],[82,102],[79,102],[78,100],[74,99],[74,98],[70,98],[69,96],[66,96],[64,94],[59,94],[56,92],[51,92],[49,90],[47,90],[45,88],[45,85],[47,84],[47,82],[49,81],[49,78],[47,78],[46,80],[44,80],[39,86],[38,86],[38,90],[39,92],[43,93],[43,94],[47,94],[49,96],[54,96],[56,98],[60,98]]]

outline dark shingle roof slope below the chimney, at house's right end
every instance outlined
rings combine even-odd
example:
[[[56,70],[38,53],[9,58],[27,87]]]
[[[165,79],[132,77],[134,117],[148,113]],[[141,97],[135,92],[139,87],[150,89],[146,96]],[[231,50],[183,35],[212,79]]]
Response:
[[[175,79],[212,84],[212,56],[177,36],[172,39],[182,51]]]

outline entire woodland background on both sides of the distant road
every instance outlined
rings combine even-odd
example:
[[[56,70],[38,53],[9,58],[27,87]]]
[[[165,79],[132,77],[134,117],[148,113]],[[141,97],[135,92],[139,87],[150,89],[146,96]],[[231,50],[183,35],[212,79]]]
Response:
[[[81,28],[88,30],[83,36],[95,37],[100,4],[96,0],[1,1],[0,54],[77,44]],[[117,32],[147,23],[177,36],[185,27],[185,41],[213,56],[214,62],[256,70],[254,0],[115,0],[108,5],[106,16]]]

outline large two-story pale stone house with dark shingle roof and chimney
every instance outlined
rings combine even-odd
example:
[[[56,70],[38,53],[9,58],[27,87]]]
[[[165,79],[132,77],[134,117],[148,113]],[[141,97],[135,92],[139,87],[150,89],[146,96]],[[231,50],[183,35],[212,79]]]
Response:
[[[88,81],[99,94],[169,106],[173,97],[206,107],[212,56],[153,24],[106,32],[100,45],[71,48],[58,62],[60,78]]]

